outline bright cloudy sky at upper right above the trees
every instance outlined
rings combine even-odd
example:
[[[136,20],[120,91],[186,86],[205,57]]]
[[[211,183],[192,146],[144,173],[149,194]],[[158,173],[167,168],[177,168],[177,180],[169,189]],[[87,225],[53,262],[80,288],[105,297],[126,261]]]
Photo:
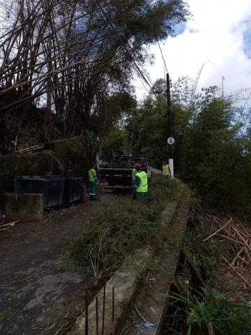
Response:
[[[226,94],[246,88],[243,98],[247,98],[251,92],[251,0],[185,2],[192,18],[176,27],[176,37],[160,43],[172,81],[182,75],[196,78],[204,64],[197,91],[222,85],[223,76]],[[154,82],[165,76],[164,64],[158,45],[151,45],[149,51],[155,64],[145,68]],[[143,87],[139,79],[134,84]],[[139,99],[147,94],[143,89],[135,92]]]

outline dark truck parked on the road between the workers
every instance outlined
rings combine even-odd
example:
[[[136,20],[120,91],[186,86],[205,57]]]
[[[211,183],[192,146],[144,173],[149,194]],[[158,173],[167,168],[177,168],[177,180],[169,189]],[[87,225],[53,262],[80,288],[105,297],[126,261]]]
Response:
[[[151,177],[151,167],[144,156],[115,156],[110,163],[99,163],[98,172],[102,188],[132,188],[132,169],[139,163]]]

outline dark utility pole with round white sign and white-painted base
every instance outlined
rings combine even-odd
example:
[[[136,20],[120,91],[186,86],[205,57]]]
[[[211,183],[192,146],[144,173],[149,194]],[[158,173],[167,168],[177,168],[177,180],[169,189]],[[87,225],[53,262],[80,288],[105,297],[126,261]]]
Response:
[[[174,137],[172,131],[172,110],[171,110],[171,94],[170,94],[170,78],[167,73],[167,127],[168,127],[168,153],[169,153],[169,168],[171,171],[171,178],[174,178]]]

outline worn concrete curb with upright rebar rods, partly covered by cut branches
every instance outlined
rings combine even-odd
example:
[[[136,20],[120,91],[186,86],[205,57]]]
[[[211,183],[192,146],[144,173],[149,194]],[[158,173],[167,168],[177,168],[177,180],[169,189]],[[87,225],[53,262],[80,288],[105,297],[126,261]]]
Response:
[[[165,234],[168,225],[172,222],[176,213],[177,202],[171,202],[162,212],[161,230]],[[114,334],[119,334],[123,323],[128,315],[130,303],[137,297],[140,290],[141,278],[146,268],[151,264],[154,251],[151,248],[143,247],[135,251],[124,264],[115,272],[106,284],[105,298],[105,329],[102,333],[102,304],[104,300],[104,289],[102,288],[96,297],[98,297],[98,334],[108,334],[112,332],[112,289],[115,290],[114,299]],[[89,305],[89,335],[96,335],[96,297]],[[85,332],[85,313],[77,318],[75,325],[68,332],[68,335],[84,335]]]

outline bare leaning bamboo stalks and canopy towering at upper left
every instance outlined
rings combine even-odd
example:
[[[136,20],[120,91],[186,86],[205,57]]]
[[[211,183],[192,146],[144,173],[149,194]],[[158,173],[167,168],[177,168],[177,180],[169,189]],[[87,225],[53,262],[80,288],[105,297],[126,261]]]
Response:
[[[183,1],[149,6],[144,0],[1,0],[1,153],[84,128],[98,133],[109,122],[107,96],[130,90],[135,73],[147,81],[146,46],[188,17]]]

